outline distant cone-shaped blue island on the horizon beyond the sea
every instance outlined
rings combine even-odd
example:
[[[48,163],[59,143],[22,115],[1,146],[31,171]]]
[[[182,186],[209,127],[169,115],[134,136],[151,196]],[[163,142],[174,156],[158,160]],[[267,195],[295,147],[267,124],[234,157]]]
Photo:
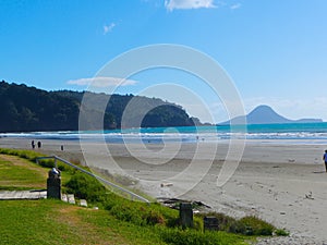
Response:
[[[272,124],[272,123],[315,123],[323,122],[322,119],[300,119],[300,120],[290,120],[274,111],[268,106],[258,106],[247,115],[245,115],[247,124]],[[244,121],[244,117],[237,117],[230,121],[220,123],[220,124],[240,124]]]

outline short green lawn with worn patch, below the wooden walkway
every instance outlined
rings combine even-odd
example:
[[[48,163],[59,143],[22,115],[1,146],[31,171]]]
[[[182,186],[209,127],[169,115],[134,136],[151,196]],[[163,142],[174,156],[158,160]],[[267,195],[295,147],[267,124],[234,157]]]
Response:
[[[2,200],[0,210],[0,244],[165,244],[106,210],[57,200]]]

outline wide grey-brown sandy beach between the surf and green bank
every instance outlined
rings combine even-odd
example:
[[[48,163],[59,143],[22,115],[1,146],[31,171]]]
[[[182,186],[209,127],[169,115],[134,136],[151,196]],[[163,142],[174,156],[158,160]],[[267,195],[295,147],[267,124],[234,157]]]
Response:
[[[97,143],[87,143],[86,152],[76,140],[44,139],[41,149],[36,150],[68,160],[80,159],[109,171],[112,166],[108,162],[113,160],[116,167],[140,180],[136,187],[153,197],[175,197],[177,193],[181,193],[174,189],[179,186],[178,183],[172,182],[170,186],[164,187],[159,183],[175,180],[187,185],[190,175],[191,185],[190,173],[193,171],[197,177],[202,167],[211,160],[206,174],[195,186],[179,195],[179,198],[201,200],[216,211],[238,218],[254,215],[278,228],[287,229],[295,241],[296,237],[302,237],[307,244],[327,244],[327,173],[322,160],[326,147],[307,143],[310,142],[247,143],[237,171],[220,187],[216,183],[227,155],[227,144],[219,144],[215,158],[210,159],[210,144],[201,143],[206,144],[206,150],[197,156],[195,163],[192,159],[196,144],[182,145],[175,152],[179,147],[174,145],[166,150],[162,150],[161,145],[149,144],[146,148],[133,145],[131,151],[122,144],[104,147]],[[64,146],[63,151],[60,150],[61,145]],[[0,138],[0,147],[29,149],[31,139],[3,137]],[[191,163],[190,169],[187,167]],[[179,174],[185,171],[189,174],[185,175],[186,179],[173,179],[183,176]]]

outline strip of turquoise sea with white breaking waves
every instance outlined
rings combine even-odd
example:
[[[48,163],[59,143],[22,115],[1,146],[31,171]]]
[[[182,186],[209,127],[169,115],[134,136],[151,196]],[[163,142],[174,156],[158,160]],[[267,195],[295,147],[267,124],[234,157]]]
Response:
[[[106,140],[107,143],[197,143],[246,138],[247,142],[327,144],[327,123],[251,124],[246,126],[181,126],[88,132],[2,133],[0,137],[34,139]]]

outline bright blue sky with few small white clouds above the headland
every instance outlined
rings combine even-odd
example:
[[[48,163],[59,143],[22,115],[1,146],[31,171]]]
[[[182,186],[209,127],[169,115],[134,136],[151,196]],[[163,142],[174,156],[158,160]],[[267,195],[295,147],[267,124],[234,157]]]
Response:
[[[2,0],[0,79],[82,90],[130,49],[177,44],[214,58],[246,111],[265,103],[291,119],[327,120],[326,13],[326,0]],[[118,93],[177,83],[197,94],[214,120],[186,94],[164,99],[203,121],[226,119],[219,98],[190,74],[161,69],[130,78]]]

